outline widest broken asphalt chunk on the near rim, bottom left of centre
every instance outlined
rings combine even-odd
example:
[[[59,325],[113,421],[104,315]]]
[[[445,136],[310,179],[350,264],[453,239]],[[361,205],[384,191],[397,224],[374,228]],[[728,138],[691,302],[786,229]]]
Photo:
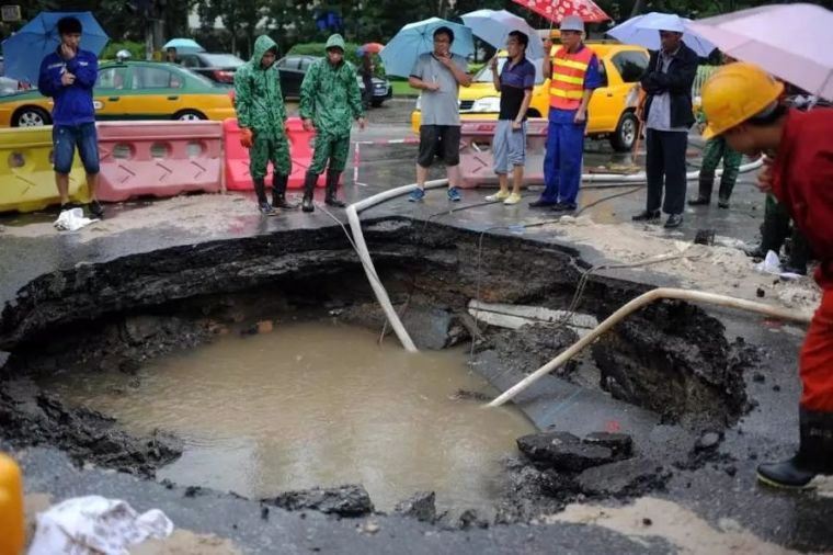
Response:
[[[367,490],[361,485],[344,485],[336,488],[312,488],[286,491],[274,499],[263,499],[276,507],[290,511],[311,509],[339,517],[365,517],[374,511]]]

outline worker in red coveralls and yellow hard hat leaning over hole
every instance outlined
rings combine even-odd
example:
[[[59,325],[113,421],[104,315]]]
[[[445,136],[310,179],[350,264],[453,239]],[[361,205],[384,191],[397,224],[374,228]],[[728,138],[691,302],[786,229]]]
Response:
[[[800,446],[788,461],[757,467],[764,484],[802,488],[833,474],[833,109],[787,109],[783,90],[757,66],[737,63],[706,81],[701,98],[704,137],[722,136],[739,152],[767,156],[758,188],[789,211],[821,262],[821,306],[799,355]]]

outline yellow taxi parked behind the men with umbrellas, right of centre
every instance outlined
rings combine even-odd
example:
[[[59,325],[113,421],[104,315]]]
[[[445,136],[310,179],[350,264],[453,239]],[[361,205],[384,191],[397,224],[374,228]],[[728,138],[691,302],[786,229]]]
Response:
[[[641,46],[615,42],[587,42],[596,53],[602,87],[596,89],[587,107],[587,135],[607,138],[619,151],[629,150],[637,138],[637,84],[648,68],[648,50]],[[498,53],[498,71],[506,63],[506,52]],[[549,113],[549,79],[541,75],[541,60],[536,60],[537,76],[529,117],[547,117]],[[471,87],[460,87],[459,111],[463,120],[492,120],[500,112],[500,93],[492,83],[492,70],[484,66]],[[411,127],[419,133],[422,114],[420,100],[411,114]]]

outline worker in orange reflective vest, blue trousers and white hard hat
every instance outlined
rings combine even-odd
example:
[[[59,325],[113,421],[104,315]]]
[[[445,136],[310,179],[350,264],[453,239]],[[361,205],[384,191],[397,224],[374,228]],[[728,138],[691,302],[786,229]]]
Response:
[[[584,22],[568,15],[560,26],[561,44],[550,47],[544,58],[544,75],[549,82],[549,128],[544,158],[544,184],[533,208],[550,206],[557,212],[575,209],[584,156],[587,104],[593,90],[602,84],[596,55],[584,45]]]

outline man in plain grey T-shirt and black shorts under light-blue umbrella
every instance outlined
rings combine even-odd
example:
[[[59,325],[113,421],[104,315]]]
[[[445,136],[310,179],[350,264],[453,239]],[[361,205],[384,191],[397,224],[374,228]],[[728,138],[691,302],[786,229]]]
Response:
[[[416,157],[416,185],[409,201],[425,196],[425,180],[434,157],[440,152],[448,174],[448,200],[458,202],[460,180],[460,114],[457,104],[459,86],[471,84],[466,58],[452,53],[454,31],[434,30],[434,50],[421,54],[411,69],[408,83],[423,91],[420,151]]]

